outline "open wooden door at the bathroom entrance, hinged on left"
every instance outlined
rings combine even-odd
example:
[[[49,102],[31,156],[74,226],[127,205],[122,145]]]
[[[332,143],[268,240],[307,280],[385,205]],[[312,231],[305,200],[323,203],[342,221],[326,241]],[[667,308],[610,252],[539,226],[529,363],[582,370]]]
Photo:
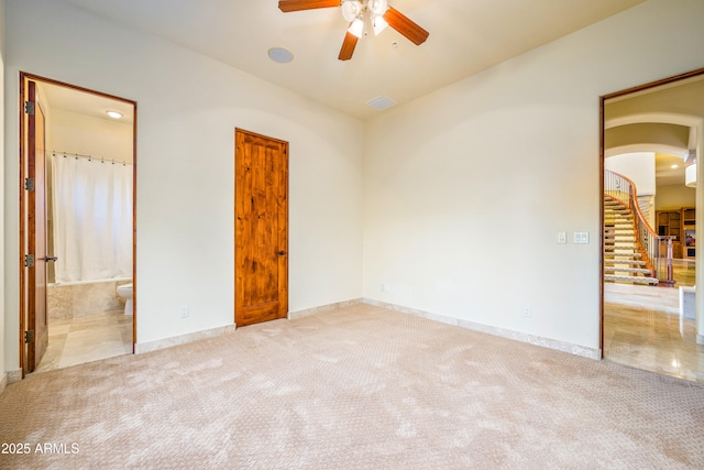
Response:
[[[24,87],[23,154],[23,273],[22,341],[24,372],[38,365],[48,346],[46,311],[46,154],[44,112],[37,100],[36,84]]]

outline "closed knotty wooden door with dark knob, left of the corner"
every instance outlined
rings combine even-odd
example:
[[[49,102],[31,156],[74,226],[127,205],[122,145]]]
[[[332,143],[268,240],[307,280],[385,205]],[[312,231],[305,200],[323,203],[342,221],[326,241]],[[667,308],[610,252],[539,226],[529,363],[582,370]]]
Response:
[[[235,130],[234,321],[288,315],[288,143]]]

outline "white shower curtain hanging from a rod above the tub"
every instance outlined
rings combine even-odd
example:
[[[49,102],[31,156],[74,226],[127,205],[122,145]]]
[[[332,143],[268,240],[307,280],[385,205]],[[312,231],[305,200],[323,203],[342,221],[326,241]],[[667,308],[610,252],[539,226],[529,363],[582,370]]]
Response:
[[[56,282],[132,276],[132,165],[53,156]]]

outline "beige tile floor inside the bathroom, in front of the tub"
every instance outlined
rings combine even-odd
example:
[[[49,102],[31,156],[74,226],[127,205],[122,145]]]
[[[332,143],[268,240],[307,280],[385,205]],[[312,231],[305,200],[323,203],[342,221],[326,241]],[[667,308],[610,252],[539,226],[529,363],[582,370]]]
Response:
[[[132,352],[132,316],[124,310],[50,319],[48,347],[34,373]]]

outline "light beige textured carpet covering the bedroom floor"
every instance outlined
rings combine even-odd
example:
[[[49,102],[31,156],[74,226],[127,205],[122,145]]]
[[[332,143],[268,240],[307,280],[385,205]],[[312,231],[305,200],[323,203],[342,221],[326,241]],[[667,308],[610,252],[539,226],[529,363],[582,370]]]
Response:
[[[356,305],[30,376],[0,441],[12,469],[704,468],[704,387]]]

